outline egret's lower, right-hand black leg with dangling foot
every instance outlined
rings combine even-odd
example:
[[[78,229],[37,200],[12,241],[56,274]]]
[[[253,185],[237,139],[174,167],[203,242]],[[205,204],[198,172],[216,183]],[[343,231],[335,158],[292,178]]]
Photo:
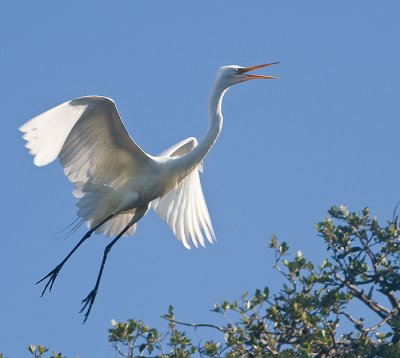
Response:
[[[107,256],[108,256],[109,252],[111,251],[111,248],[121,238],[121,236],[123,234],[125,234],[125,232],[128,231],[130,227],[132,227],[132,225],[136,224],[146,214],[147,210],[148,210],[148,207],[137,208],[136,209],[136,213],[133,216],[132,220],[129,222],[129,224],[104,249],[103,260],[101,261],[100,270],[99,270],[99,273],[97,275],[96,284],[95,284],[93,290],[90,291],[90,293],[87,295],[87,297],[82,300],[83,307],[79,311],[79,313],[82,313],[87,307],[87,310],[86,310],[86,313],[85,313],[85,318],[83,319],[83,323],[85,323],[86,320],[88,319],[90,311],[92,309],[94,300],[95,300],[96,295],[97,295],[97,291],[99,289],[101,275],[103,274],[104,265],[106,263]]]

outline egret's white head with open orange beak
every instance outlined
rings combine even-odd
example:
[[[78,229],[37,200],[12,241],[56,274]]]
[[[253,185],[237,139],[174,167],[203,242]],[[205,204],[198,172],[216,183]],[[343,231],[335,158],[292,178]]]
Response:
[[[251,66],[251,67],[243,67],[238,65],[230,65],[223,66],[218,71],[217,81],[224,88],[228,88],[237,83],[255,80],[255,79],[277,79],[275,76],[263,76],[250,74],[249,72],[254,71],[259,68],[264,68],[268,66],[272,66],[278,64],[279,62],[265,63],[263,65]]]

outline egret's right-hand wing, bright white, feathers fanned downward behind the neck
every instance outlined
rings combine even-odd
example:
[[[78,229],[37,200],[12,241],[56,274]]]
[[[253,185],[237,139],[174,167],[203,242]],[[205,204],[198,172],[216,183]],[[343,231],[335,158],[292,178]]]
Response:
[[[196,145],[195,138],[188,138],[162,154],[180,157]],[[182,241],[187,249],[191,248],[190,241],[196,247],[198,243],[205,247],[204,236],[210,243],[216,241],[201,188],[199,167],[183,179],[176,188],[152,202],[156,213],[168,224],[176,238]]]

